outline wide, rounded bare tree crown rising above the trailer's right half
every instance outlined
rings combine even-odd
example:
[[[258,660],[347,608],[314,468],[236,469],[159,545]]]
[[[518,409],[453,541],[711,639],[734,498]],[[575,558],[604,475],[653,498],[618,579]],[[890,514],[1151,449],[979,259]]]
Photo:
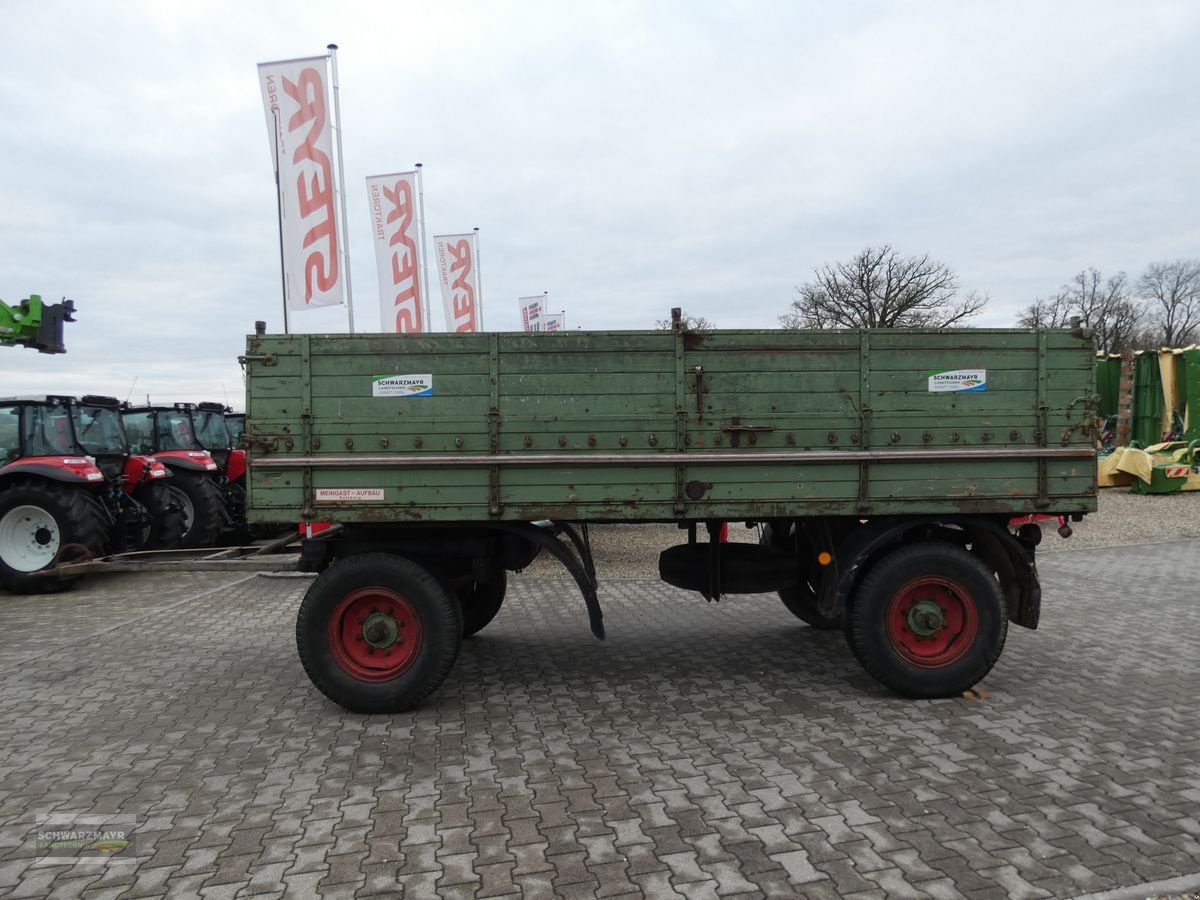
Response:
[[[974,292],[959,298],[958,277],[929,254],[901,257],[887,244],[814,275],[779,317],[784,328],[949,328],[988,302]]]

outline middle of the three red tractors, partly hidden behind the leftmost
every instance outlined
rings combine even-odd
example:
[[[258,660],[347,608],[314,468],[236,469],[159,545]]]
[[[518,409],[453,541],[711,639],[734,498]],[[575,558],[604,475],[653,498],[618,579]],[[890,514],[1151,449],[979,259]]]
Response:
[[[192,427],[186,404],[128,407],[121,419],[134,452],[152,456],[168,469],[167,484],[184,511],[184,547],[211,547],[229,524],[220,467]]]

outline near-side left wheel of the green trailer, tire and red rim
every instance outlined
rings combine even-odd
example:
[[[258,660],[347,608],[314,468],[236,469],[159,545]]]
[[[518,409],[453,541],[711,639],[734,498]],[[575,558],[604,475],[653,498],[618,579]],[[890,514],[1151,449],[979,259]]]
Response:
[[[401,713],[449,674],[458,602],[426,569],[391,553],[335,560],[300,604],[296,649],[317,689],[354,713]]]

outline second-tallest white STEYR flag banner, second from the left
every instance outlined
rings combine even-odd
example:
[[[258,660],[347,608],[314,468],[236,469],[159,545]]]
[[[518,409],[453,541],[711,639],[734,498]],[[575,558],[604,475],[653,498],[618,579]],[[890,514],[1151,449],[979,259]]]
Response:
[[[420,233],[416,221],[416,173],[371,175],[367,208],[379,274],[380,331],[401,335],[428,331],[421,296]]]

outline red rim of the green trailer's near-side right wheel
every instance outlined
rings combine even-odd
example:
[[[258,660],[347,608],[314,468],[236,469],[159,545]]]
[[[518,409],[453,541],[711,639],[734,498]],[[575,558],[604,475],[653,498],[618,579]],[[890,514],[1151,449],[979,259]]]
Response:
[[[979,634],[974,598],[965,587],[936,575],[913,578],[888,604],[888,638],[905,660],[941,668],[962,659]]]

